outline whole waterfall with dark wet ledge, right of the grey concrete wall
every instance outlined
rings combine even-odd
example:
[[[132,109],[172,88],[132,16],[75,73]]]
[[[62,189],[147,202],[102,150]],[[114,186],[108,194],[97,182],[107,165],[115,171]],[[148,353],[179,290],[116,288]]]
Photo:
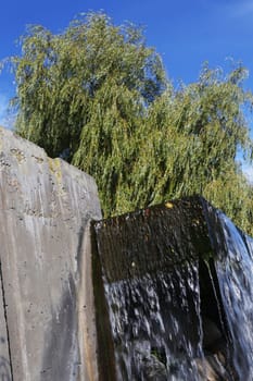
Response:
[[[201,197],[93,223],[100,380],[253,380],[253,241]]]

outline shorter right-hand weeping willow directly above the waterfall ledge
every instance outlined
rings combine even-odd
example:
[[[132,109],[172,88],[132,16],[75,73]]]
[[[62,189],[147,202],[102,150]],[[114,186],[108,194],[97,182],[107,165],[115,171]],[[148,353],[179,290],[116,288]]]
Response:
[[[253,187],[237,161],[238,150],[252,159],[245,76],[240,65],[225,75],[205,64],[197,83],[168,86],[150,106],[132,174],[139,207],[201,194],[253,233]]]

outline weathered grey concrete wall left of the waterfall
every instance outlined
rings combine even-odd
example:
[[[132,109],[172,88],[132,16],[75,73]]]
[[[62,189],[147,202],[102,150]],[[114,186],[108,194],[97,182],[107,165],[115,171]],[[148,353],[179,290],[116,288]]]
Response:
[[[0,379],[98,379],[89,221],[100,218],[92,177],[0,128]]]

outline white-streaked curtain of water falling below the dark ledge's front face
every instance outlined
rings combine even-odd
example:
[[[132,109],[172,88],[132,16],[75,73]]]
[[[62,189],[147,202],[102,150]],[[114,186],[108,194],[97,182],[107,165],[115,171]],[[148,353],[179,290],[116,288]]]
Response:
[[[198,266],[106,284],[118,380],[197,380]]]

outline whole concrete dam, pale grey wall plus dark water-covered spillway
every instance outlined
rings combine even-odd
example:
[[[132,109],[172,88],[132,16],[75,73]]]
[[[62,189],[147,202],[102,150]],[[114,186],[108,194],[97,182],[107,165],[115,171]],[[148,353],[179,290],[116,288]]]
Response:
[[[253,239],[199,196],[103,220],[0,128],[0,380],[253,380]]]

